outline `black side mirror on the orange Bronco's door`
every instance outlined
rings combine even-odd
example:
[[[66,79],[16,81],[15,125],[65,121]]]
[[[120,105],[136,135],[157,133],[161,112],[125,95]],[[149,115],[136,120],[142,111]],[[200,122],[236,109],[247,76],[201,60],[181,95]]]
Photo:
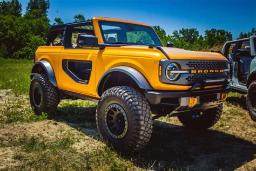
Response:
[[[97,43],[98,43],[98,38],[96,36],[85,35],[85,34],[78,35],[77,44],[79,46],[93,47],[93,46],[96,46]]]

